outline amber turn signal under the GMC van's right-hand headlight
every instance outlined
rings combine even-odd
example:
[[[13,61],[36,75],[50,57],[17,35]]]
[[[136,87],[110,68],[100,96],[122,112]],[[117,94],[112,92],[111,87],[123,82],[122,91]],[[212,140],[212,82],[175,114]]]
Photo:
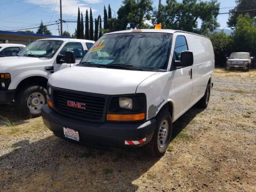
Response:
[[[107,121],[139,121],[145,119],[145,113],[141,114],[107,114]]]

